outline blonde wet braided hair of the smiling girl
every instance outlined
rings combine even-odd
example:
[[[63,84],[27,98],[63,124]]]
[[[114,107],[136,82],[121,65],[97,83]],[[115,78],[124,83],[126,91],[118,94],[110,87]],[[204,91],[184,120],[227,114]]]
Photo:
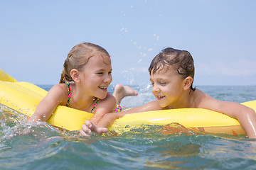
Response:
[[[89,61],[90,57],[94,56],[96,53],[101,53],[102,57],[103,55],[110,57],[107,50],[99,45],[95,45],[90,42],[75,45],[75,47],[73,47],[68,53],[68,57],[65,59],[63,64],[64,68],[60,77],[60,83],[65,83],[65,81],[73,81],[72,77],[70,76],[71,70],[78,69],[78,71],[81,72],[82,68]]]

